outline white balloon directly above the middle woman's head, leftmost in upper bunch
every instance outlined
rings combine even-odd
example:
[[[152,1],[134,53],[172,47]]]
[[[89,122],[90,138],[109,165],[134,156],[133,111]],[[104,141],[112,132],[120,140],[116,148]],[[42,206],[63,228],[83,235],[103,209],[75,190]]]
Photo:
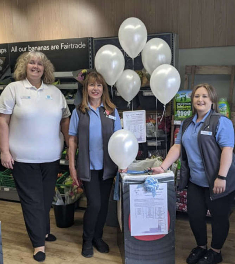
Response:
[[[95,55],[95,68],[109,85],[114,85],[125,67],[125,59],[114,45],[102,46]]]

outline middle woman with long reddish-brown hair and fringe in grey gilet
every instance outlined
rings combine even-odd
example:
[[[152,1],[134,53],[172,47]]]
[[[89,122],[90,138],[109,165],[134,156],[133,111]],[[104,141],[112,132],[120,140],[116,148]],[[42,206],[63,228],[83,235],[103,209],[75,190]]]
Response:
[[[73,110],[69,125],[69,170],[74,182],[78,184],[78,179],[82,180],[87,197],[83,218],[84,257],[93,256],[93,246],[101,253],[109,252],[102,235],[117,166],[109,157],[108,142],[119,129],[120,118],[110,101],[107,84],[101,74],[91,72],[83,86],[82,103]]]

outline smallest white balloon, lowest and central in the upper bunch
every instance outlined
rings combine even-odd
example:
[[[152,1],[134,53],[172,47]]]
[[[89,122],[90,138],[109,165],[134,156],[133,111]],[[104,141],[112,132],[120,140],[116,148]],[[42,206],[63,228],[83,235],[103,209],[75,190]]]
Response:
[[[124,70],[116,82],[121,97],[130,102],[139,92],[141,80],[134,70]]]

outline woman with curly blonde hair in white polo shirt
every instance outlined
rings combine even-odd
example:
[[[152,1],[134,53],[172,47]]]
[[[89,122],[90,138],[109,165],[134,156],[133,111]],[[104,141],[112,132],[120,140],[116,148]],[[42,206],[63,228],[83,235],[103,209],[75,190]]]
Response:
[[[33,257],[45,259],[63,135],[68,146],[70,111],[60,90],[51,85],[54,67],[41,52],[23,53],[14,78],[0,97],[1,162],[11,168],[20,197]],[[62,132],[62,133],[61,133]]]

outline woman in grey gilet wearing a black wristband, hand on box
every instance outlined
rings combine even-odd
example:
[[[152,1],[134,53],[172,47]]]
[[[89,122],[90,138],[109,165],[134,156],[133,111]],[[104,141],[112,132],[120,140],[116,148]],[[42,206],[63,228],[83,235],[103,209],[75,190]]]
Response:
[[[181,157],[179,189],[187,188],[189,222],[197,247],[188,264],[222,261],[221,249],[229,231],[235,196],[234,130],[231,120],[218,113],[215,88],[208,83],[192,91],[193,116],[185,119],[175,144],[160,167],[162,173]],[[212,240],[207,250],[206,212],[211,213]]]

